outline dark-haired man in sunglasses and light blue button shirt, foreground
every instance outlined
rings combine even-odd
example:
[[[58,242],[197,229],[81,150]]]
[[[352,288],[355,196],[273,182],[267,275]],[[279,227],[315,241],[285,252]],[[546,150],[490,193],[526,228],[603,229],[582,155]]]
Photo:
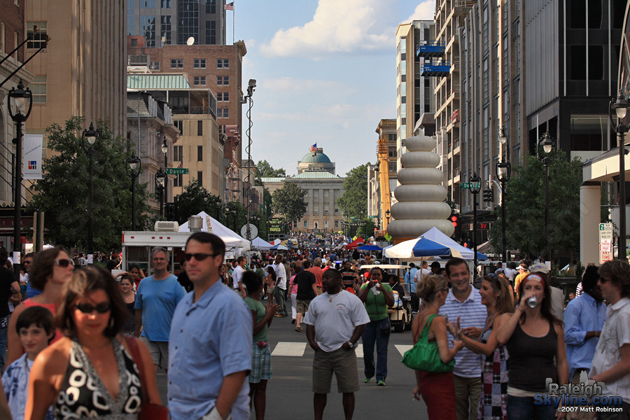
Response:
[[[249,419],[253,323],[243,299],[221,282],[224,255],[225,244],[211,233],[195,232],[186,242],[195,288],[177,305],[169,336],[172,420]]]

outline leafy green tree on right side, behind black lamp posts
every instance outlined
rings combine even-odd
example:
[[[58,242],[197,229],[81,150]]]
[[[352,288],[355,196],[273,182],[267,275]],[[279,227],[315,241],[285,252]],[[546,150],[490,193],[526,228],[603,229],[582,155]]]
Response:
[[[530,257],[545,253],[545,171],[542,162],[528,156],[514,168],[505,184],[505,235],[507,248],[519,249]],[[580,185],[582,162],[568,160],[562,151],[549,165],[549,238],[552,253],[573,252],[580,246]],[[491,244],[501,250],[501,212],[491,229]]]

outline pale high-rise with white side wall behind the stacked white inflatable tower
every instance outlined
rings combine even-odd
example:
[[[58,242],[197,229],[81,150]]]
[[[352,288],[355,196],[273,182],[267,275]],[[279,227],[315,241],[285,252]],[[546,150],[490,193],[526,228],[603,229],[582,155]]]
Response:
[[[400,169],[400,157],[405,153],[405,140],[412,137],[416,125],[423,119],[424,134],[433,135],[432,120],[435,112],[435,96],[431,79],[420,73],[416,59],[416,46],[432,38],[433,21],[414,20],[398,25],[396,31],[396,168]],[[424,117],[423,117],[424,116]]]

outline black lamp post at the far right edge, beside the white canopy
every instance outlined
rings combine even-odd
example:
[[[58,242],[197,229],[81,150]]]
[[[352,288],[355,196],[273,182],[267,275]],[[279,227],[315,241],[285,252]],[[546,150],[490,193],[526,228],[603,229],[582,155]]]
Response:
[[[614,100],[614,99],[613,99]],[[626,141],[625,134],[630,130],[630,127],[624,125],[623,119],[626,118],[626,113],[630,104],[626,102],[624,94],[619,90],[619,97],[616,102],[610,101],[610,123],[612,123],[612,111],[617,114],[617,126],[615,131],[619,136],[619,239],[617,241],[617,258],[619,260],[626,259]]]

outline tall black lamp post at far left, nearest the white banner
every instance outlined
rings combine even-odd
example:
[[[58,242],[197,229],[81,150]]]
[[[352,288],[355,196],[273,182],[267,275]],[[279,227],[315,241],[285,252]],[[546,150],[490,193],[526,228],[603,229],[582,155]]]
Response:
[[[31,114],[33,95],[27,87],[24,88],[22,79],[18,83],[18,89],[11,87],[8,92],[8,111],[13,123],[15,123],[15,186],[13,188],[13,203],[15,214],[13,215],[13,270],[15,277],[20,278],[20,254],[22,253],[22,124]]]

